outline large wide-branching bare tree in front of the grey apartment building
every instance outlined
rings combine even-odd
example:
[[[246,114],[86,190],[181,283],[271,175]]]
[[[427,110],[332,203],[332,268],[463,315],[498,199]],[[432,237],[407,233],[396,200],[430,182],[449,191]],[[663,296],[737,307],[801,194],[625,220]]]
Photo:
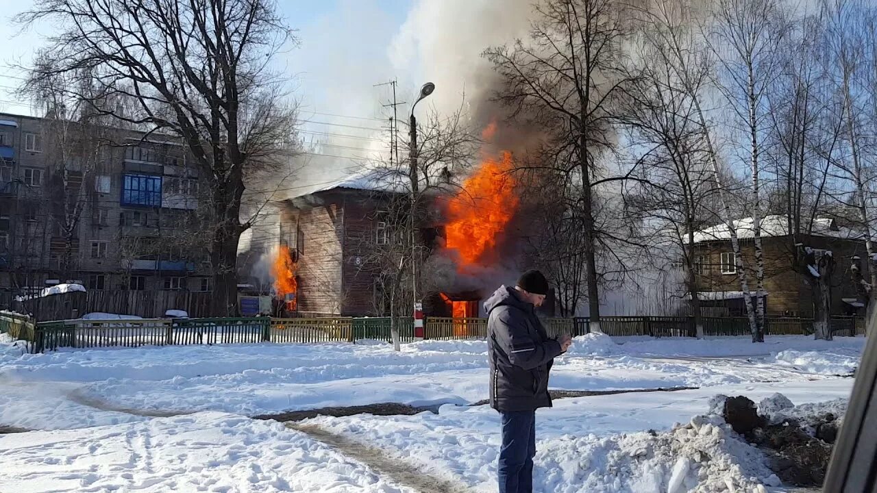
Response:
[[[136,125],[148,136],[179,136],[210,182],[215,227],[213,313],[237,311],[236,256],[246,175],[271,167],[293,132],[294,111],[271,73],[273,55],[293,40],[270,0],[37,0],[22,25],[61,26],[29,83],[88,76],[88,94],[69,96],[89,111]],[[81,82],[81,81],[77,81]],[[124,97],[127,108],[106,106]]]

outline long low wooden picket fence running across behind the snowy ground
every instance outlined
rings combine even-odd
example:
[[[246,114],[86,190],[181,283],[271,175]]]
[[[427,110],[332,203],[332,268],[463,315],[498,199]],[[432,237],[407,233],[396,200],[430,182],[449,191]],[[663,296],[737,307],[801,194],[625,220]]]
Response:
[[[747,336],[748,320],[703,318],[706,336]],[[414,337],[412,318],[398,318],[400,339]],[[589,332],[587,318],[545,318],[549,336],[569,333],[581,336]],[[605,317],[601,332],[614,336],[693,337],[694,319],[690,317]],[[834,335],[856,336],[865,333],[861,317],[831,319]],[[137,318],[109,320],[59,320],[34,323],[32,318],[0,312],[0,332],[10,333],[27,342],[32,353],[59,347],[139,347],[253,343],[355,343],[357,340],[391,340],[390,318]],[[812,334],[809,318],[769,318],[766,335]],[[424,339],[484,339],[486,318],[426,318]]]

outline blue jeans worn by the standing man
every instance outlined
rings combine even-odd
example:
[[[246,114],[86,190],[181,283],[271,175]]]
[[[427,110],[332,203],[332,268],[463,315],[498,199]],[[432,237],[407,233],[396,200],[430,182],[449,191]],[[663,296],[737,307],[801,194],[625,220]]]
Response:
[[[499,493],[531,493],[536,455],[536,411],[500,413],[503,447],[499,451]]]

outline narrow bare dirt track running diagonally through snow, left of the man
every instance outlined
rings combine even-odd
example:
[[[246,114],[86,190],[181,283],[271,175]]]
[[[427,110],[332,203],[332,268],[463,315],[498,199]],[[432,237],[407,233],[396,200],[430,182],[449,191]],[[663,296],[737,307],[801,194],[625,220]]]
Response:
[[[317,425],[300,425],[298,423],[286,423],[285,425],[290,429],[307,434],[312,439],[323,442],[340,454],[365,464],[381,475],[386,475],[392,482],[416,489],[421,493],[466,493],[470,491],[466,486],[457,482],[425,474],[421,468],[393,457],[386,450],[368,447],[344,435],[328,432]]]

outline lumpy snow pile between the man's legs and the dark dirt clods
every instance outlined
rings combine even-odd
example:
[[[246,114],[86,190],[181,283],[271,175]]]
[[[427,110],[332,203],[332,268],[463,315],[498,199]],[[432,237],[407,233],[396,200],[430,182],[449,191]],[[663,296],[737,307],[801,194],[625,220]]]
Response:
[[[716,416],[670,432],[549,441],[536,456],[538,491],[763,491],[779,486],[758,449]]]

